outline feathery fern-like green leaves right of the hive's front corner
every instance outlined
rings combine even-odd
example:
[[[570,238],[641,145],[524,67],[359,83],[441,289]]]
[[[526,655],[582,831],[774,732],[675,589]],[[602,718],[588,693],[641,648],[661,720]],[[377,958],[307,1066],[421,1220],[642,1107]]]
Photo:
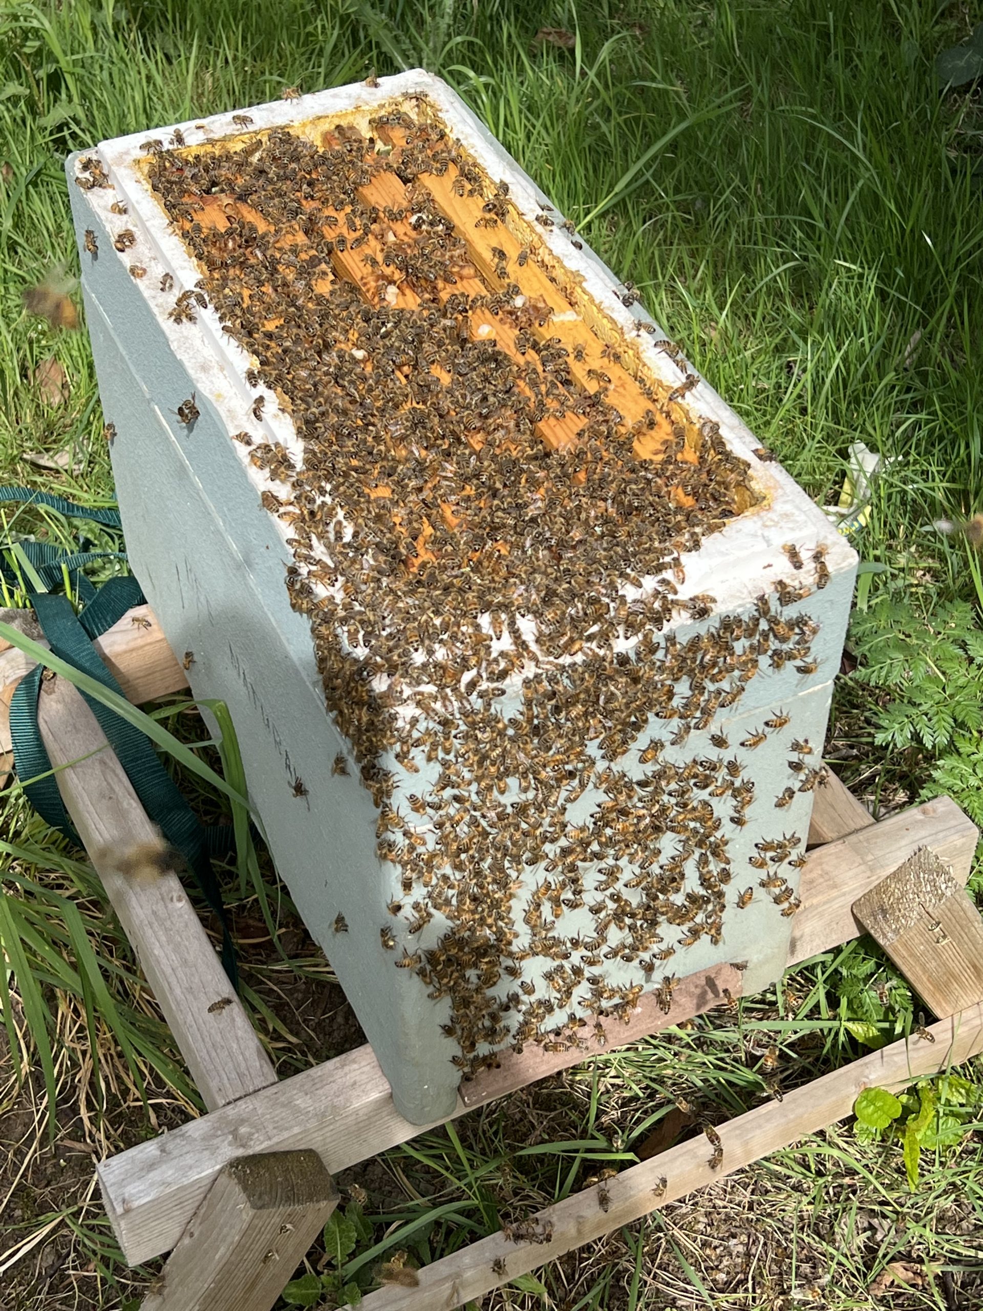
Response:
[[[983,823],[983,632],[966,602],[887,594],[857,614],[852,678],[870,688],[874,743],[924,758],[921,800],[948,794]]]

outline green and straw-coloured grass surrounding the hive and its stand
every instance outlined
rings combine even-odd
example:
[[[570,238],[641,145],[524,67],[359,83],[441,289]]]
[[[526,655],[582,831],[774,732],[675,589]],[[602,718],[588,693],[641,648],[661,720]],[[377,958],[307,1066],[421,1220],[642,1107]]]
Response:
[[[69,149],[422,63],[638,284],[818,501],[835,501],[851,442],[889,458],[856,539],[882,570],[872,598],[961,598],[979,615],[976,561],[925,524],[983,509],[983,195],[971,172],[983,102],[940,94],[933,73],[936,52],[980,17],[978,4],[935,0],[0,3],[0,479],[89,505],[113,494],[88,338],[28,319],[20,299],[51,264],[75,262]],[[573,33],[574,47],[536,41],[543,24]],[[50,358],[67,379],[58,404],[33,379]],[[41,472],[26,451],[67,451],[72,472]],[[7,510],[8,545],[76,534],[51,511]],[[109,530],[89,536],[117,544]],[[872,696],[843,680],[831,745],[844,777],[886,809],[907,800],[917,762],[873,747]],[[185,737],[201,728],[180,705],[166,718]],[[235,762],[201,755],[231,767],[235,787]],[[202,780],[181,779],[206,815],[229,818]],[[122,1266],[92,1156],[180,1124],[197,1095],[89,865],[17,785],[0,806],[18,974],[34,982],[3,994],[0,1270],[18,1311],[118,1308],[152,1270]],[[249,859],[240,850],[227,878],[246,996],[288,1072],[359,1036],[267,857]],[[54,1147],[38,1023],[52,1051]],[[345,1196],[371,1235],[353,1260],[387,1235],[431,1260],[633,1159],[672,1104],[726,1118],[765,1096],[772,1061],[790,1087],[857,1055],[857,1034],[893,1038],[912,1023],[916,1003],[889,965],[862,945],[830,953],[738,1017],[594,1061],[465,1117],[456,1138],[426,1134],[347,1172]],[[872,1280],[903,1261],[917,1277],[886,1285],[885,1304],[970,1307],[983,1287],[982,1163],[967,1131],[925,1154],[911,1196],[896,1146],[835,1129],[540,1277],[568,1311],[847,1311],[870,1306]],[[406,1224],[417,1227],[404,1239]],[[518,1289],[485,1303],[540,1304]]]

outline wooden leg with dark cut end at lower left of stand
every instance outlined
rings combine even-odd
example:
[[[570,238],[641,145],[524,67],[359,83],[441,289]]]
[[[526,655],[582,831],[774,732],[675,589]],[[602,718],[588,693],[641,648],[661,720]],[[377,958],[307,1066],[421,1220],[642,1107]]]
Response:
[[[224,1167],[142,1311],[270,1311],[338,1202],[313,1151]]]

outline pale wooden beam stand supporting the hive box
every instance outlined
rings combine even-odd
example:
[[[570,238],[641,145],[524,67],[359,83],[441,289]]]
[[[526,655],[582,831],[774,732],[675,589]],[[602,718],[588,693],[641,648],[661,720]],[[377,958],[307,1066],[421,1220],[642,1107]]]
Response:
[[[144,628],[143,623],[149,623]],[[132,701],[186,687],[153,615],[140,607],[96,642]],[[28,662],[0,652],[0,704]],[[66,806],[98,869],[181,1047],[208,1113],[104,1160],[98,1179],[126,1259],[172,1252],[144,1311],[269,1311],[336,1205],[332,1173],[423,1131],[392,1105],[371,1047],[277,1080],[178,878],[134,886],[105,851],[151,830],[94,716],[71,684],[42,684],[39,722]],[[3,741],[0,750],[9,747]],[[831,777],[817,792],[802,909],[789,952],[794,966],[862,932],[852,906],[917,848],[928,847],[965,885],[976,829],[946,797],[874,823]],[[453,1116],[544,1075],[741,996],[731,966],[679,982],[668,1013],[644,998],[629,1024],[608,1023],[604,1047],[503,1054],[501,1066],[461,1084]],[[704,1188],[768,1152],[841,1120],[870,1086],[899,1088],[983,1050],[983,1004],[974,1003],[895,1042],[717,1126],[722,1160],[697,1137],[565,1198],[418,1272],[418,1286],[385,1286],[366,1311],[452,1308],[564,1252]]]

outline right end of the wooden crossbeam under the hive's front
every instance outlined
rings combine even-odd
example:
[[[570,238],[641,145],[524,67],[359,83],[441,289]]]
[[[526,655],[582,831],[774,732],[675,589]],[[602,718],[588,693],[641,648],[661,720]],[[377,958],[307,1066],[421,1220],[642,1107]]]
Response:
[[[853,902],[919,847],[931,847],[965,884],[976,839],[975,825],[955,802],[938,797],[817,847],[802,869],[802,910],[793,922],[789,966],[862,933]]]

